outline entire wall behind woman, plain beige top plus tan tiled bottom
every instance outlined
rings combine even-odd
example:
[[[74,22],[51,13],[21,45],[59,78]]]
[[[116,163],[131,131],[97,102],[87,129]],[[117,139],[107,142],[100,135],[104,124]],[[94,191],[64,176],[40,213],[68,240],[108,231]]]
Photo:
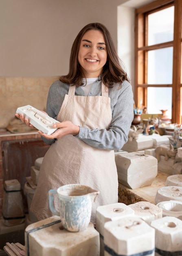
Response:
[[[48,88],[68,73],[71,46],[84,25],[103,23],[117,48],[117,6],[145,1],[0,0],[0,128],[20,106],[46,108]]]

